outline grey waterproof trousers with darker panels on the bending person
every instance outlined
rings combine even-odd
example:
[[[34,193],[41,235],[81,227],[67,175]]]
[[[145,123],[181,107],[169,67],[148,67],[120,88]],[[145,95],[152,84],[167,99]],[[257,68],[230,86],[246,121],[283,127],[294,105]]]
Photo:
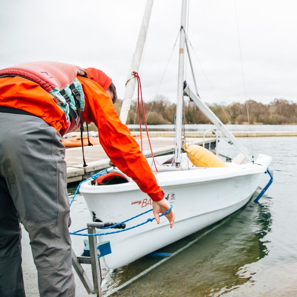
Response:
[[[20,222],[41,297],[75,296],[65,146],[42,119],[0,112],[0,296],[25,296]]]

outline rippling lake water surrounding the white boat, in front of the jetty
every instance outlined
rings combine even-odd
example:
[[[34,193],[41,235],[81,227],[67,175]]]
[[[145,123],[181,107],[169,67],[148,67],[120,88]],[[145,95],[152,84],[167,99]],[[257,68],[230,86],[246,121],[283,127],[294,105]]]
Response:
[[[289,127],[293,126],[286,126]],[[273,158],[270,169],[274,182],[259,203],[251,200],[189,249],[115,296],[297,296],[297,137],[240,140],[245,146],[252,143],[255,156],[264,153]],[[230,157],[237,154],[224,141],[219,143],[219,152]],[[260,187],[268,180],[268,175],[263,174]],[[73,191],[69,189],[69,195]],[[78,230],[91,220],[81,196],[72,205],[71,217],[71,230]],[[174,252],[204,232],[163,250]],[[22,241],[27,296],[39,296],[26,232]],[[83,238],[72,236],[72,243],[76,254],[81,254]],[[103,289],[119,286],[158,260],[143,257],[120,269],[103,267]],[[89,267],[86,270],[89,274]],[[77,277],[76,283],[77,296],[88,296]]]

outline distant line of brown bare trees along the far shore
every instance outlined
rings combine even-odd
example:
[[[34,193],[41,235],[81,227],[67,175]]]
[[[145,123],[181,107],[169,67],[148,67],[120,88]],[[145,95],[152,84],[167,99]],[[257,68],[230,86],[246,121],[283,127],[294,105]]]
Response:
[[[115,104],[116,111],[119,113],[122,100]],[[274,99],[269,104],[249,100],[249,121],[251,124],[297,124],[297,103],[285,99]],[[245,103],[231,103],[223,105],[225,113],[220,105],[208,105],[209,108],[224,123],[228,124],[247,124],[247,107]],[[153,101],[144,103],[149,125],[173,124],[176,113],[176,104],[171,103],[164,96],[157,96]],[[186,101],[184,105],[185,124],[209,124],[209,120],[195,106],[193,102]],[[228,121],[228,119],[229,121]],[[138,123],[137,102],[132,101],[128,114],[127,124]]]

